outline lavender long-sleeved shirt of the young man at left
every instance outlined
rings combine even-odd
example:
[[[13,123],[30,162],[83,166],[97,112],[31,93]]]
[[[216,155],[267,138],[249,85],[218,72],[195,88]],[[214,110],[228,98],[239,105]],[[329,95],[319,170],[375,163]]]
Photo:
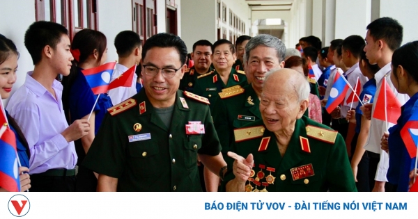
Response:
[[[54,96],[28,72],[23,86],[16,90],[7,111],[22,128],[29,144],[29,173],[49,169],[72,169],[77,163],[74,142],[68,143],[61,133],[68,127],[61,100],[63,86],[52,83]]]

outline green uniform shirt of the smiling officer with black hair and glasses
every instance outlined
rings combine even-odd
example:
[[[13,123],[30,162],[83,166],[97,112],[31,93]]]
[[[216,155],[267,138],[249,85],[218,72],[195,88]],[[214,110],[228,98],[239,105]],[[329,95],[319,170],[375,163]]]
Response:
[[[118,191],[201,191],[197,155],[221,151],[209,107],[201,102],[208,99],[178,90],[167,128],[142,89],[109,108],[83,165],[118,178]],[[190,122],[201,122],[204,133],[187,134]]]

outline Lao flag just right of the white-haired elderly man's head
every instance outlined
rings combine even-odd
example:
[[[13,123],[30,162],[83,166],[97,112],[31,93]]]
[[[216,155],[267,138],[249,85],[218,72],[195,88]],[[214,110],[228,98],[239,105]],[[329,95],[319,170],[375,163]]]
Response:
[[[331,114],[336,106],[343,102],[344,98],[346,97],[348,88],[348,84],[343,79],[343,76],[337,72],[335,74],[334,83],[332,83],[330,97],[328,97],[327,105],[325,105],[328,113]]]

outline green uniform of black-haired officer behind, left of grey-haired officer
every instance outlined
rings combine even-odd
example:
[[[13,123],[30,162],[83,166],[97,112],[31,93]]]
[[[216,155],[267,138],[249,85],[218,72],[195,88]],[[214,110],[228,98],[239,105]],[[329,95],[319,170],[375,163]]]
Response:
[[[212,109],[213,104],[215,104],[215,100],[219,97],[218,93],[222,92],[222,89],[238,85],[245,81],[247,81],[245,72],[237,72],[235,69],[231,69],[229,79],[225,84],[224,81],[222,81],[221,75],[215,70],[213,73],[202,74],[197,77],[196,84],[194,86],[194,93],[208,98],[210,108]]]

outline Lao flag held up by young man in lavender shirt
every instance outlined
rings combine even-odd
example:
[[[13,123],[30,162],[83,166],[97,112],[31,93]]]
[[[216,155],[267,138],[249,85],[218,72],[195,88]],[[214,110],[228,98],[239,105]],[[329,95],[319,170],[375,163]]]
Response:
[[[82,70],[82,73],[86,76],[88,85],[95,95],[107,92],[115,65],[116,62],[112,62],[88,70]]]

